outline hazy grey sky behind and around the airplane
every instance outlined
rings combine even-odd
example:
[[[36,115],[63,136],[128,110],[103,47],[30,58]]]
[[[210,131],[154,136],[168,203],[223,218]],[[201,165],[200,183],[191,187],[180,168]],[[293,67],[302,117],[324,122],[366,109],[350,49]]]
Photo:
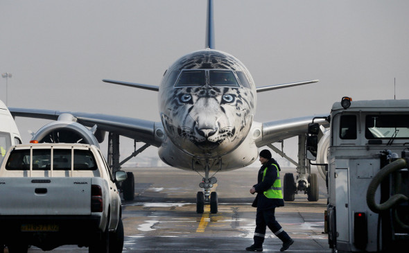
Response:
[[[2,0],[0,72],[12,78],[7,85],[0,79],[0,100],[159,121],[157,92],[101,80],[159,85],[175,60],[204,49],[206,6],[205,0]],[[342,96],[406,99],[407,10],[406,0],[214,0],[215,45],[241,60],[257,87],[320,80],[258,94],[255,121],[329,113]],[[47,122],[16,119],[24,142]],[[297,154],[296,143],[288,141],[288,155]],[[133,142],[121,139],[121,158],[132,151]]]

